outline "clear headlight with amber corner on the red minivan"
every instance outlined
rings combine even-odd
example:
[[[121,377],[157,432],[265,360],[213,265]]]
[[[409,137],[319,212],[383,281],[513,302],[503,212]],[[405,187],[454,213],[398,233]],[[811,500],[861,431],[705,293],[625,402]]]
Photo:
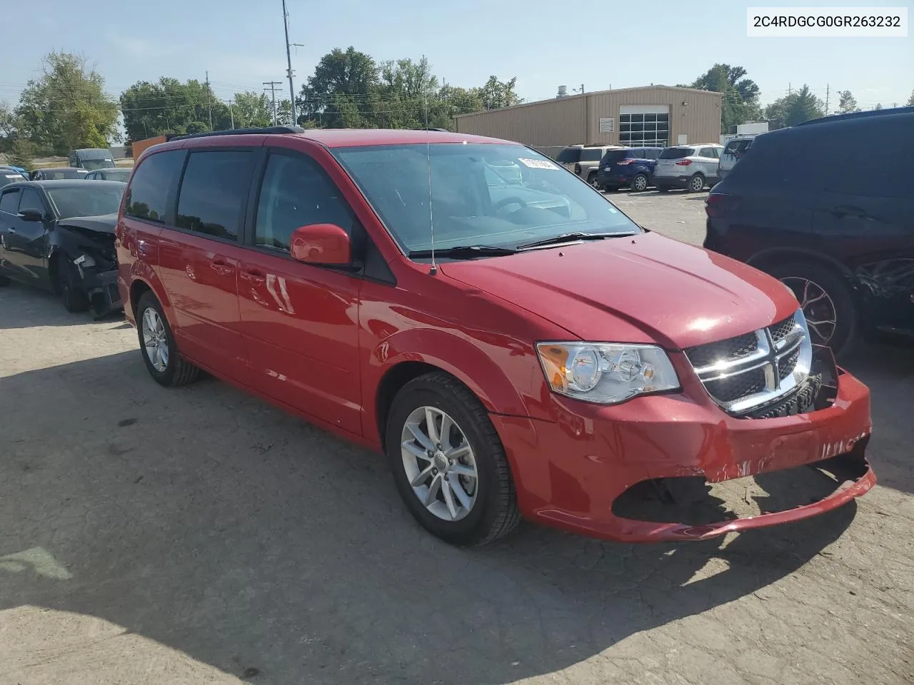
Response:
[[[585,402],[612,405],[679,387],[669,357],[654,345],[539,342],[537,353],[552,391]]]

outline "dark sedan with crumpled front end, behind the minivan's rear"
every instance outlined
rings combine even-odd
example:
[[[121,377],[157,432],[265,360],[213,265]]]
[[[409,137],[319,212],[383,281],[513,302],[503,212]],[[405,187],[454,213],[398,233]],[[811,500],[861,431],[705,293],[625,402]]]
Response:
[[[67,311],[121,309],[114,227],[127,184],[31,181],[0,188],[0,286],[51,290]]]

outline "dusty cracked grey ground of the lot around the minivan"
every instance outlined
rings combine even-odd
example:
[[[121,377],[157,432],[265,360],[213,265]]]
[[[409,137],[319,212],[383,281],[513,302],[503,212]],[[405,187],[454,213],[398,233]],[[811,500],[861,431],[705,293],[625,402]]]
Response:
[[[703,195],[614,195],[700,242]],[[909,683],[914,354],[873,391],[880,485],[711,543],[422,532],[382,458],[214,380],[155,385],[132,328],[0,289],[0,683]]]

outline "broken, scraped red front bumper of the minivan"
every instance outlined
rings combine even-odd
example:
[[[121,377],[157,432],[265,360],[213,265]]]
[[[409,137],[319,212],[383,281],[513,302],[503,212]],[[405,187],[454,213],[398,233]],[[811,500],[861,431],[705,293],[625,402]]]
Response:
[[[661,542],[798,521],[859,497],[876,483],[869,391],[827,350],[816,356],[831,373],[813,411],[792,416],[729,416],[685,380],[685,394],[617,406],[552,398],[555,422],[493,415],[521,510],[570,532]]]

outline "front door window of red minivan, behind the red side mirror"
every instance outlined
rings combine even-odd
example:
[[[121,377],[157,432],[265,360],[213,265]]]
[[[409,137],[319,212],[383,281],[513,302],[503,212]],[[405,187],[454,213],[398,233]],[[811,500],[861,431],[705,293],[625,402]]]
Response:
[[[255,245],[288,251],[292,232],[310,224],[335,224],[351,236],[354,220],[343,195],[313,159],[270,155],[260,184]]]

